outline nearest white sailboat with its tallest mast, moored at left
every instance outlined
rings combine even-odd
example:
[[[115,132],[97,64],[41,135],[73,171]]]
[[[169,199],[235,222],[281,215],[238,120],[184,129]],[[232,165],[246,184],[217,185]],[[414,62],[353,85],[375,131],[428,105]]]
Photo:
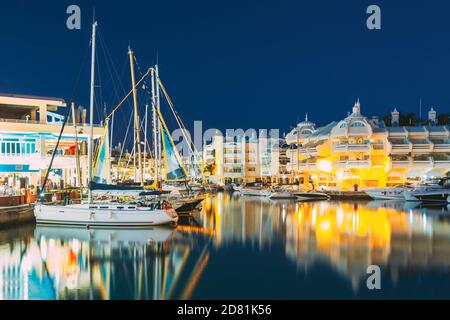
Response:
[[[91,94],[90,94],[90,131],[89,131],[89,182],[93,181],[93,117],[95,89],[95,36],[97,22],[92,25],[92,57],[91,57]],[[132,60],[132,59],[130,59]],[[132,77],[134,78],[133,65]],[[133,79],[134,86],[134,79]],[[136,90],[133,87],[134,98]],[[135,99],[136,101],[136,99]],[[55,148],[56,150],[56,148]],[[49,168],[50,170],[50,168]],[[142,180],[141,180],[142,182]],[[45,189],[45,184],[44,184]],[[84,225],[90,227],[145,227],[171,224],[178,221],[178,215],[166,201],[153,203],[148,207],[137,205],[121,205],[110,203],[93,203],[92,190],[88,188],[88,203],[76,205],[44,205],[38,203],[34,214],[36,222],[41,224]]]

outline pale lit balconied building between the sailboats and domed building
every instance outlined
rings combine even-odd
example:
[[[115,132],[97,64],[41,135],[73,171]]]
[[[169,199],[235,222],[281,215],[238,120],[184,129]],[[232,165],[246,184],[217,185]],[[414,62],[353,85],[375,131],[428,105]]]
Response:
[[[284,174],[280,139],[264,135],[235,138],[215,135],[203,148],[203,163],[210,181],[218,183],[278,182]],[[280,164],[284,167],[280,172]]]

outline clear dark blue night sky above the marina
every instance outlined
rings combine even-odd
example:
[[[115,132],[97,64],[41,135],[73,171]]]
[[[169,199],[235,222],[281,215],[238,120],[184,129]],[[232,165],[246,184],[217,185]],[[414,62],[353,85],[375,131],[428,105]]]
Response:
[[[69,4],[81,7],[81,31],[66,29]],[[366,28],[370,4],[381,7],[381,31]],[[93,6],[123,85],[130,87],[129,43],[143,67],[158,53],[190,127],[202,119],[206,128],[287,131],[305,112],[319,124],[341,119],[358,97],[368,116],[394,106],[418,112],[420,98],[424,109],[450,111],[444,0],[1,1],[0,92],[70,100]],[[101,99],[111,108],[112,64],[99,46]],[[88,105],[88,96],[87,64],[76,101]]]

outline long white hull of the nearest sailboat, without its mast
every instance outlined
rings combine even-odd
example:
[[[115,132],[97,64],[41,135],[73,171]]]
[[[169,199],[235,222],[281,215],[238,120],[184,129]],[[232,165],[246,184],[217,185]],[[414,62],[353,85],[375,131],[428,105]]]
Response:
[[[38,224],[88,227],[147,227],[178,222],[175,209],[166,201],[155,202],[145,207],[112,203],[66,206],[37,203],[34,214]]]

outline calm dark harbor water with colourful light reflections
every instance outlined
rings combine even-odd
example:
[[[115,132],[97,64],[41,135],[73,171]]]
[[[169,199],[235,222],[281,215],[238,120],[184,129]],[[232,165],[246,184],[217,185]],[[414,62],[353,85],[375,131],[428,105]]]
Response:
[[[448,299],[448,210],[219,193],[176,228],[2,230],[0,299]]]

